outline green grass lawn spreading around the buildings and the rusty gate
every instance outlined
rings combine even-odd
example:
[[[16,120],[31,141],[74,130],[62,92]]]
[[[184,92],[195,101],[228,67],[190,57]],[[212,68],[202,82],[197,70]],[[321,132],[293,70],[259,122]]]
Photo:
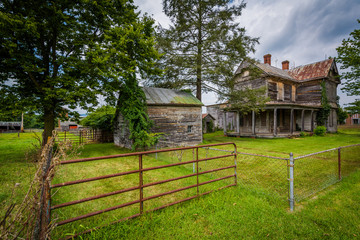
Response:
[[[221,132],[205,134],[204,144],[235,142],[240,152],[264,154],[287,158],[290,152],[301,156],[329,148],[360,143],[359,129],[340,129],[337,134],[325,137],[305,137],[296,139],[251,139],[227,138]],[[21,183],[21,191],[25,191],[26,183],[34,171],[33,164],[24,159],[26,149],[34,142],[33,134],[0,134],[0,200],[7,199],[9,190],[15,182]],[[218,147],[231,150],[230,147]],[[89,144],[82,147],[76,157],[96,157],[129,152],[115,147],[113,144]],[[179,161],[189,161],[193,153],[158,154],[144,158],[144,167],[159,166]],[[201,150],[202,157],[219,154],[214,151]],[[221,153],[226,154],[226,153]],[[358,156],[358,155],[357,155]],[[229,164],[233,159],[228,159]],[[261,164],[259,164],[261,163]],[[221,162],[212,162],[212,167],[221,166]],[[114,226],[102,228],[83,237],[89,239],[356,239],[360,236],[360,172],[351,174],[342,182],[337,183],[311,199],[306,199],[296,206],[295,213],[287,209],[287,161],[271,160],[266,164],[261,158],[238,158],[238,181],[236,187],[221,190],[186,203],[172,206],[165,210],[146,214],[138,219],[129,220]],[[96,162],[64,165],[53,183],[100,176],[136,169],[138,160],[135,157],[124,159],[101,160]],[[209,165],[199,165],[202,171]],[[358,167],[358,165],[357,165]],[[144,181],[159,181],[192,173],[193,165],[156,170],[150,175],[144,175]],[[276,171],[273,171],[273,170]],[[355,168],[354,168],[355,169]],[[231,174],[231,171],[223,172]],[[304,175],[306,176],[306,175]],[[201,181],[218,177],[206,175]],[[256,181],[254,181],[254,179]],[[196,179],[176,181],[150,187],[145,196],[169,191],[181,186],[194,184]],[[310,181],[316,181],[310,179]],[[227,184],[231,181],[228,180]],[[62,187],[56,192],[53,204],[77,200],[96,194],[107,193],[138,184],[137,176],[131,175],[101,180],[99,182]],[[220,183],[211,187],[219,187]],[[270,187],[269,187],[270,186]],[[201,191],[209,190],[206,187]],[[21,192],[20,191],[20,192]],[[145,202],[145,209],[159,204],[182,199],[193,195],[193,190],[162,197],[156,201]],[[21,194],[19,195],[21,196]],[[112,207],[138,198],[138,190],[122,195],[107,197],[90,203],[82,203],[69,208],[55,211],[54,218],[58,220],[78,216],[91,211]],[[54,236],[64,236],[80,232],[89,227],[99,225],[99,222],[112,222],[116,219],[138,212],[138,204],[125,209],[98,215],[88,220],[58,227]]]

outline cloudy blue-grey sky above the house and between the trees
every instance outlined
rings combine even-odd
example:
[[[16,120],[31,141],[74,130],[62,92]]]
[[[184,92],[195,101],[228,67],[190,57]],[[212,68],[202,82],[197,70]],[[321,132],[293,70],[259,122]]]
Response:
[[[247,0],[239,18],[251,37],[260,37],[256,53],[272,55],[272,65],[281,68],[281,62],[290,61],[290,67],[336,57],[336,47],[342,39],[360,26],[360,0]],[[234,0],[239,3],[239,0]],[[147,12],[161,25],[170,24],[162,12],[162,0],[135,0],[141,12]],[[338,68],[340,66],[338,65]],[[339,69],[340,70],[340,69]],[[351,102],[338,88],[340,103]],[[216,103],[214,94],[203,95],[205,105]]]

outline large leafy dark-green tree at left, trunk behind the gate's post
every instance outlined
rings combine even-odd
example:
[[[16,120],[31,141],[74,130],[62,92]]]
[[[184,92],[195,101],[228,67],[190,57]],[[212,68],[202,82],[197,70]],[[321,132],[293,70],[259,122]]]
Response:
[[[137,73],[151,74],[153,20],[135,10],[132,0],[1,1],[0,98],[16,93],[43,115],[44,143],[64,107],[92,107],[106,91],[115,102]]]

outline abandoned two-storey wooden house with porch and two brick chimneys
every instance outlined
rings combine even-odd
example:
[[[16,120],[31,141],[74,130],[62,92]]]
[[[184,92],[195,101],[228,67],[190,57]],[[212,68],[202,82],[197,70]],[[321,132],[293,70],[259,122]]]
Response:
[[[329,132],[337,131],[336,88],[340,79],[334,59],[293,69],[289,69],[289,61],[283,61],[282,69],[279,69],[271,66],[271,55],[267,54],[264,63],[254,65],[260,69],[261,75],[256,79],[250,77],[249,63],[243,62],[235,73],[236,86],[238,89],[265,86],[270,101],[266,103],[264,111],[247,115],[236,110],[224,111],[231,103],[208,106],[208,112],[217,121],[222,118],[226,135],[288,137],[300,131],[312,132],[316,127],[316,114],[322,107],[324,92],[331,106],[326,127]]]

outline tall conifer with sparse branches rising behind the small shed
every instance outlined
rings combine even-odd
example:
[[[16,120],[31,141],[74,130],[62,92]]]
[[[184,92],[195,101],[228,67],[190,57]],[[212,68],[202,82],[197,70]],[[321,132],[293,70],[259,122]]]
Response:
[[[155,86],[191,88],[222,94],[234,75],[234,67],[254,51],[257,38],[246,36],[237,22],[246,4],[232,0],[163,0],[172,24],[159,26],[160,65],[166,70],[152,78]]]

